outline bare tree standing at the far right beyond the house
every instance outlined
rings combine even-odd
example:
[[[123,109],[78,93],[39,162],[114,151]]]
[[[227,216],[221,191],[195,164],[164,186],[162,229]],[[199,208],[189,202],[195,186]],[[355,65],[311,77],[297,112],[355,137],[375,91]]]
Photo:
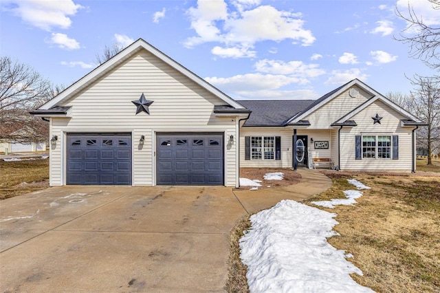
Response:
[[[411,83],[415,90],[411,91],[412,98],[406,100],[407,107],[429,124],[418,132],[417,141],[428,149],[428,165],[431,165],[432,153],[440,151],[440,80],[416,75]]]

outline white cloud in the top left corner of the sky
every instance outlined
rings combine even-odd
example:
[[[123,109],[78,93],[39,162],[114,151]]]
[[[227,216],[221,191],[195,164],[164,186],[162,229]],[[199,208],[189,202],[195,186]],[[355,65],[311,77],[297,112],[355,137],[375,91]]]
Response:
[[[52,28],[69,28],[78,10],[84,8],[72,0],[12,1],[17,7],[10,11],[31,25],[50,31]]]

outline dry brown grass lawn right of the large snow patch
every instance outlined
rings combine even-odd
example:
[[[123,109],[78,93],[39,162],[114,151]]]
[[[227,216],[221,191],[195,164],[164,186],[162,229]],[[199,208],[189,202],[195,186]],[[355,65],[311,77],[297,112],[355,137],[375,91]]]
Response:
[[[372,188],[358,204],[322,208],[340,223],[329,243],[364,273],[353,279],[376,292],[440,292],[440,177],[327,175],[333,186],[309,201],[343,197],[352,177]]]

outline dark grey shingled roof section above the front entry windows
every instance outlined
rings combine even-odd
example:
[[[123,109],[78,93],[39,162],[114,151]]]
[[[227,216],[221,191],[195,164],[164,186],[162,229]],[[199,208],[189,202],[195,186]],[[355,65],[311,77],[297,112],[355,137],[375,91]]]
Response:
[[[252,113],[244,126],[276,127],[285,126],[296,113],[301,113],[314,100],[240,100],[241,105]]]

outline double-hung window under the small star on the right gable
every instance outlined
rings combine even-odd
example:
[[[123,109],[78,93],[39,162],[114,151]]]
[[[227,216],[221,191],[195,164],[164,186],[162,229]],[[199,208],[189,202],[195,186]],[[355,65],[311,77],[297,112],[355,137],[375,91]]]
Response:
[[[397,147],[397,138],[394,140]],[[392,135],[362,135],[362,159],[391,159],[392,142]],[[397,152],[397,149],[395,151]],[[393,158],[396,158],[396,155],[397,153]]]

